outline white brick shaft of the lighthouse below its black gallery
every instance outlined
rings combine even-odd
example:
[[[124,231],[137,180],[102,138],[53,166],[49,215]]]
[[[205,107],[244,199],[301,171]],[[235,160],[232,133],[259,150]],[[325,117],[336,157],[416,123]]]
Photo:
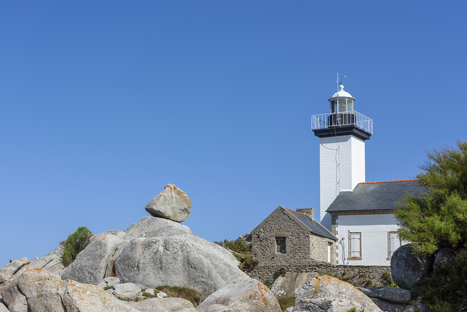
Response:
[[[319,138],[319,197],[321,224],[331,231],[326,209],[340,191],[365,182],[365,141],[351,135]]]

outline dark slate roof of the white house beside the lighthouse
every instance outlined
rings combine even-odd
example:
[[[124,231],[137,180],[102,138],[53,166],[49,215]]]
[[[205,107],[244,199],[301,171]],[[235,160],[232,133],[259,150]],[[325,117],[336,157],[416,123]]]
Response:
[[[340,192],[326,211],[392,210],[405,191],[418,195],[423,188],[417,180],[362,182],[352,192]]]

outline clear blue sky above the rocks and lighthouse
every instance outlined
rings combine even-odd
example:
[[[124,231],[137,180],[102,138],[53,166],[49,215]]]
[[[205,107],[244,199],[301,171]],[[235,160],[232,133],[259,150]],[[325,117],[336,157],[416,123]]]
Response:
[[[0,4],[0,266],[124,230],[169,183],[208,240],[319,210],[336,72],[374,120],[367,181],[466,139],[466,1]]]

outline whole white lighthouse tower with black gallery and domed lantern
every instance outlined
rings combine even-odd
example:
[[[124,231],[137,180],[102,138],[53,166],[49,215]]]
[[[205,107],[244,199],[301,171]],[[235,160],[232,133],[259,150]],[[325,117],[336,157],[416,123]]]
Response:
[[[365,140],[373,134],[373,120],[354,110],[355,98],[342,85],[328,101],[330,112],[311,116],[311,129],[319,138],[319,218],[331,231],[326,209],[341,191],[365,182]]]

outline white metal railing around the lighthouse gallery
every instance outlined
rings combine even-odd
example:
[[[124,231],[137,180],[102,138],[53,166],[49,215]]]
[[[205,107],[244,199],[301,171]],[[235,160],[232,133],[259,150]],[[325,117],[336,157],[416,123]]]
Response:
[[[370,119],[355,110],[311,116],[312,130],[346,127],[351,125],[373,134],[373,119]]]

